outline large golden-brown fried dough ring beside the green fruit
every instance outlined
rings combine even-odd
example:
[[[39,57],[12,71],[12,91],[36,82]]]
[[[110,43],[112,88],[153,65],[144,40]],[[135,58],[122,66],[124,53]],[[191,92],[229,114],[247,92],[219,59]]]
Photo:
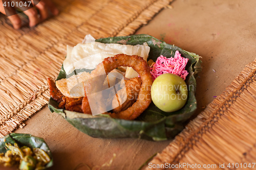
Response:
[[[150,67],[148,67],[146,61],[143,60],[142,57],[136,55],[129,56],[125,54],[117,54],[114,57],[105,58],[102,64],[99,64],[96,69],[91,72],[91,77],[93,78],[102,75],[104,71],[106,75],[108,75],[110,71],[120,66],[132,67],[138,72],[142,82],[141,88],[137,101],[131,107],[119,113],[107,113],[113,118],[132,120],[137,118],[152,101],[151,86],[153,80],[150,74]],[[98,79],[97,81],[88,82],[86,85],[86,91],[91,93],[96,92],[96,90],[99,89],[99,86],[103,84],[103,80],[104,79]]]

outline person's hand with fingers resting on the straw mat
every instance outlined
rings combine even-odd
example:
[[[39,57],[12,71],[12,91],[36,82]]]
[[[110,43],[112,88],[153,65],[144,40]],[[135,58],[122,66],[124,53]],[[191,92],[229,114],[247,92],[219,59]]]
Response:
[[[57,15],[59,13],[51,0],[33,0],[32,2],[26,0],[2,0],[0,1],[0,12],[7,15],[14,29],[22,27],[22,20],[16,14],[15,9],[22,10],[28,16],[30,27],[34,27],[39,22],[48,18],[48,10],[53,15]],[[38,17],[37,10],[39,11],[40,17]]]

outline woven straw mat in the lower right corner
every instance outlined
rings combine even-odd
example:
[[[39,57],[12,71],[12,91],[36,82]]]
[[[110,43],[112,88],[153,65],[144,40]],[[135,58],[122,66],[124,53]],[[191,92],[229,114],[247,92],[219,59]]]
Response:
[[[255,169],[255,141],[256,59],[150,163],[178,167],[173,169]],[[191,168],[196,164],[201,168]],[[149,167],[144,169],[165,169]]]

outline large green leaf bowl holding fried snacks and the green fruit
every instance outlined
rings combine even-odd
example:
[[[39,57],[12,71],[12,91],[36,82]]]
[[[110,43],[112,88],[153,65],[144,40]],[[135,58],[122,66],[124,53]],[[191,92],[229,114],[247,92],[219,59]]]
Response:
[[[180,47],[170,45],[156,39],[150,35],[140,34],[132,36],[109,37],[97,39],[97,42],[102,43],[119,43],[119,44],[143,44],[147,43],[150,46],[150,54],[148,60],[156,59],[163,55],[165,57],[174,57],[178,50],[182,57],[188,58],[186,70],[189,75],[186,78],[188,86],[188,99],[185,106],[172,113],[164,112],[158,109],[154,103],[135,120],[123,120],[111,118],[109,115],[87,115],[78,112],[67,111],[58,108],[58,103],[53,99],[49,101],[49,109],[63,116],[71,125],[93,137],[100,138],[141,138],[147,140],[167,140],[174,138],[184,128],[186,120],[197,109],[196,93],[196,77],[201,72],[200,57],[194,53],[186,52]],[[90,71],[90,70],[89,70]],[[63,66],[59,72],[57,80],[66,78],[66,72]]]

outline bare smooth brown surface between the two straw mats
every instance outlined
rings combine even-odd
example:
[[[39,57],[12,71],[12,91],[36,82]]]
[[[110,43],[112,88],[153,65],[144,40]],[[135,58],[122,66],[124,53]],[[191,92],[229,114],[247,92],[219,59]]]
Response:
[[[256,2],[176,0],[136,34],[149,34],[202,56],[197,114],[255,59]],[[43,137],[53,153],[50,169],[138,169],[171,140],[100,139],[81,133],[46,107],[16,133]],[[115,156],[114,156],[115,155]],[[88,168],[88,166],[90,168]]]

